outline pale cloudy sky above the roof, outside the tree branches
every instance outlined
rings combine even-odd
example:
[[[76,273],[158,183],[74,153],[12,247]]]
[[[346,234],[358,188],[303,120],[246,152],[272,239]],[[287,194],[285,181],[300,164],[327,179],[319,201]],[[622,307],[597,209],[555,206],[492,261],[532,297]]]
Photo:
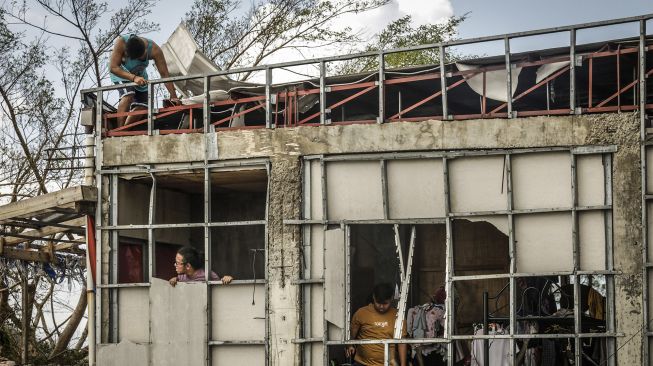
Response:
[[[249,4],[248,1],[243,3]],[[162,0],[160,6],[153,9],[151,17],[160,23],[161,31],[148,36],[156,42],[165,42],[184,14],[190,10],[191,4],[190,0]],[[459,37],[475,38],[650,13],[653,13],[653,0],[391,0],[390,4],[380,9],[365,14],[345,16],[334,26],[349,25],[361,31],[364,37],[371,37],[389,22],[404,15],[411,15],[414,23],[420,25],[439,22],[452,15],[467,14],[467,19],[458,29]],[[649,22],[649,28],[650,32],[653,32],[653,22]],[[579,33],[578,41],[582,43],[635,36],[637,31],[635,25],[597,29]],[[568,35],[561,34],[549,38],[548,41],[541,41],[550,42],[551,47],[568,42]],[[522,43],[528,43],[528,40],[523,40]],[[480,48],[475,46],[474,50],[483,54],[492,54],[494,46],[490,44],[481,45]],[[496,46],[502,48],[503,44],[497,43]],[[543,46],[549,47],[549,45]],[[518,52],[522,50],[520,47],[528,48],[520,45],[518,41],[515,41],[512,48],[514,52]],[[465,49],[463,51],[470,53]],[[323,52],[337,53],[333,50]],[[322,56],[320,53],[310,56]],[[270,59],[266,63],[288,60],[288,57],[283,55],[281,59]],[[299,55],[292,58],[299,58]]]

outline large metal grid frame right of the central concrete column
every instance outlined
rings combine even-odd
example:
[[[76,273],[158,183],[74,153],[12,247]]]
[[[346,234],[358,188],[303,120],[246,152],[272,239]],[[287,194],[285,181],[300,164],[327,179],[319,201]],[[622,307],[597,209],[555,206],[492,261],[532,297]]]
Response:
[[[606,279],[606,332],[605,333],[582,333],[581,332],[581,312],[580,312],[580,302],[576,301],[574,304],[574,333],[573,334],[564,334],[559,335],[560,338],[573,338],[576,344],[574,351],[574,358],[577,364],[580,364],[582,355],[578,345],[582,342],[584,338],[592,337],[601,337],[607,340],[607,352],[609,355],[608,365],[615,364],[616,360],[612,357],[615,354],[616,350],[616,337],[620,334],[616,332],[615,328],[615,299],[614,299],[614,285],[615,285],[615,276],[618,275],[618,272],[614,270],[614,261],[613,261],[613,243],[612,243],[612,153],[616,151],[615,146],[585,146],[585,147],[554,147],[554,148],[532,148],[532,149],[514,149],[514,150],[486,150],[486,151],[456,151],[456,152],[425,152],[425,153],[379,153],[379,154],[352,154],[352,155],[316,155],[316,156],[306,156],[303,160],[303,219],[301,220],[284,220],[285,224],[295,224],[301,225],[303,227],[303,266],[302,266],[302,275],[301,278],[294,282],[295,285],[301,287],[300,293],[302,294],[301,302],[301,337],[295,339],[293,342],[300,344],[302,348],[302,362],[303,364],[311,364],[311,360],[314,359],[312,344],[321,344],[323,352],[323,364],[327,365],[329,361],[329,346],[342,346],[342,345],[356,345],[356,344],[383,344],[385,348],[385,364],[387,365],[389,360],[388,347],[390,344],[397,343],[410,343],[410,344],[427,344],[427,343],[448,343],[452,344],[456,340],[471,340],[471,339],[495,339],[495,338],[507,338],[510,340],[510,347],[512,354],[515,355],[516,350],[516,341],[519,339],[525,338],[550,338],[551,335],[538,335],[538,334],[517,334],[516,333],[516,279],[518,277],[535,277],[535,276],[570,276],[574,279],[574,295],[578,299],[580,294],[580,278],[585,275],[604,275]],[[566,152],[570,155],[570,169],[571,169],[571,194],[572,194],[572,205],[571,207],[560,207],[560,208],[546,208],[546,209],[515,209],[513,206],[513,196],[512,196],[512,168],[511,168],[511,157],[518,154],[528,154],[528,153],[543,153],[543,152]],[[452,213],[450,211],[450,189],[449,189],[449,173],[447,169],[447,161],[457,157],[466,157],[466,156],[484,156],[484,155],[503,155],[505,159],[505,173],[507,179],[507,210],[498,211],[498,212],[456,212]],[[604,177],[604,204],[598,206],[579,206],[578,205],[578,177],[576,170],[576,158],[579,155],[600,155],[602,156],[602,165],[603,165],[603,177]],[[442,159],[443,163],[443,177],[445,179],[444,185],[444,194],[445,194],[445,215],[443,217],[433,217],[433,218],[419,218],[419,219],[390,219],[389,218],[389,209],[388,209],[388,197],[387,197],[387,173],[385,169],[386,161],[395,160],[395,159],[427,159],[427,158],[439,158]],[[311,202],[311,189],[313,185],[311,180],[314,179],[314,176],[317,174],[312,174],[312,169],[315,168],[315,165],[312,165],[312,161],[319,162],[319,179],[321,187],[321,213],[319,213],[317,218],[313,217],[312,202]],[[328,208],[327,208],[327,180],[326,180],[326,164],[330,161],[378,161],[381,164],[381,185],[383,191],[383,197],[379,197],[383,202],[383,219],[373,219],[373,220],[331,220],[328,217]],[[604,232],[605,232],[605,260],[606,267],[605,270],[590,270],[583,271],[580,268],[580,253],[579,253],[579,233],[578,233],[578,215],[579,212],[601,212],[603,213],[604,220]],[[563,212],[569,213],[572,220],[572,245],[573,245],[573,270],[571,271],[557,271],[557,272],[538,272],[538,273],[519,273],[517,272],[516,266],[516,256],[515,256],[515,237],[514,237],[514,216],[516,215],[530,215],[538,214],[542,212]],[[470,216],[487,216],[487,215],[501,215],[508,218],[509,224],[509,254],[510,254],[510,272],[504,274],[489,274],[489,275],[467,275],[467,276],[456,276],[454,275],[453,267],[453,245],[455,238],[453,237],[452,224],[453,220],[456,218],[464,218]],[[446,225],[446,291],[447,291],[447,300],[446,308],[454,309],[453,307],[453,296],[452,287],[456,282],[459,281],[469,281],[469,280],[478,280],[478,279],[487,279],[487,278],[505,278],[509,281],[510,288],[510,332],[507,335],[486,335],[486,336],[474,336],[474,335],[455,335],[453,334],[453,324],[455,318],[455,311],[449,312],[446,318],[445,325],[445,334],[444,338],[440,339],[385,339],[385,340],[351,340],[349,339],[349,320],[351,314],[349,314],[349,304],[350,304],[350,273],[349,268],[349,227],[350,225],[356,224],[407,224],[407,225],[417,225],[417,224],[428,224],[428,223],[444,223]],[[329,226],[338,225],[345,233],[345,254],[347,260],[345,261],[345,309],[346,310],[346,319],[345,319],[345,328],[342,332],[342,337],[340,340],[333,341],[329,339],[328,334],[328,324],[326,318],[323,317],[323,336],[322,337],[311,337],[310,323],[312,322],[311,314],[311,304],[310,304],[310,292],[314,290],[315,285],[322,285],[323,291],[323,300],[327,296],[327,292],[324,288],[325,285],[325,272],[322,273],[322,278],[314,278],[311,276],[311,230],[320,230],[322,228],[323,232],[327,231]],[[326,237],[326,234],[324,234]],[[324,238],[323,237],[323,238]],[[322,249],[324,250],[324,245],[326,241],[323,242]],[[313,263],[316,264],[316,263]],[[324,257],[322,258],[322,265],[326,268],[326,262]],[[406,296],[406,293],[401,293],[402,297]],[[324,306],[324,304],[323,304]],[[326,309],[323,308],[323,311]],[[405,311],[405,309],[404,309]],[[405,319],[405,314],[399,314]],[[309,319],[309,320],[307,320]],[[307,324],[307,321],[309,324]],[[553,335],[554,337],[558,335]],[[453,365],[454,359],[454,347],[448,347],[448,364]]]

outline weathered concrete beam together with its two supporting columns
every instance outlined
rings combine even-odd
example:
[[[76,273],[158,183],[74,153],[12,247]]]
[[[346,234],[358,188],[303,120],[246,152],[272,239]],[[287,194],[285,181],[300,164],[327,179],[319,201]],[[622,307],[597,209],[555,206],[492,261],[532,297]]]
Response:
[[[512,120],[425,121],[384,125],[242,130],[203,135],[134,136],[103,143],[105,165],[201,161],[204,147],[219,159],[269,158],[269,297],[271,364],[299,364],[300,227],[283,225],[301,212],[302,155],[452,149],[616,145],[613,159],[614,258],[618,364],[641,364],[642,324],[639,120],[602,114]],[[128,153],[122,153],[128,152]],[[210,154],[210,155],[211,155]],[[633,337],[634,336],[634,337]]]

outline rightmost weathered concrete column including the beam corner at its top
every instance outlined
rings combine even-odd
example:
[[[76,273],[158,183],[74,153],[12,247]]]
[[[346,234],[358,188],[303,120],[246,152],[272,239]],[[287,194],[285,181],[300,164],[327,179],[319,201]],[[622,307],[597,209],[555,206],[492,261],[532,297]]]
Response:
[[[641,365],[642,328],[642,216],[639,119],[636,114],[587,116],[586,144],[615,144],[613,157],[614,264],[616,276],[616,326],[619,365]],[[623,348],[621,348],[623,347]]]

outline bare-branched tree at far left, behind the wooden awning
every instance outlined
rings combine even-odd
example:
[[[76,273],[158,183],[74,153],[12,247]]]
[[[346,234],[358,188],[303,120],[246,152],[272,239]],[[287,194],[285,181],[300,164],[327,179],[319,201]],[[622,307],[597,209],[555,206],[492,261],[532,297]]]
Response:
[[[118,35],[157,29],[143,20],[154,3],[130,0],[113,11],[106,2],[93,0],[32,2],[38,13],[47,14],[47,21],[34,20],[34,9],[26,2],[2,4],[0,204],[80,183],[79,91],[102,85],[104,65]],[[54,22],[67,30],[53,31]],[[10,28],[18,25],[36,38],[29,40],[26,32]],[[50,40],[57,38],[74,46],[50,49]],[[86,333],[75,337],[86,310],[82,266],[81,251],[53,264],[0,258],[0,356],[18,360],[24,349],[16,337],[22,333],[28,335],[27,351],[34,363],[70,364],[84,357]],[[56,298],[56,281],[62,278],[77,282],[81,291],[76,303],[69,299],[73,306]],[[68,314],[65,319],[54,316],[61,311]]]

